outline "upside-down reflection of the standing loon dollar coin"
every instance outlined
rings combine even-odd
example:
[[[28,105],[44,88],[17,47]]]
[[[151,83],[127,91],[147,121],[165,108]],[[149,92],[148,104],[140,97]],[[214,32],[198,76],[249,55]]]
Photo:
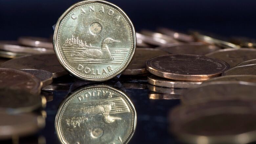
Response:
[[[128,143],[136,128],[136,111],[127,95],[98,85],[84,87],[60,105],[55,129],[61,143]]]

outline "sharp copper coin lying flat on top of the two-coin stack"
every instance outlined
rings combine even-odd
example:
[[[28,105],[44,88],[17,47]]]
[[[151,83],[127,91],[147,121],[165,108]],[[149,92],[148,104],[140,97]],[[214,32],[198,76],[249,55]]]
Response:
[[[160,77],[203,81],[220,76],[228,69],[228,64],[222,60],[192,54],[170,54],[151,58],[147,61],[147,70]]]

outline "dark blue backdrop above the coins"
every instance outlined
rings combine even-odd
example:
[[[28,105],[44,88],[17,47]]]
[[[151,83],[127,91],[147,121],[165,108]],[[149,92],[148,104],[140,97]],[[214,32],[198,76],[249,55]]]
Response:
[[[223,36],[256,37],[255,0],[109,0],[137,31],[164,26]],[[77,0],[0,0],[0,39],[53,34],[58,17]]]

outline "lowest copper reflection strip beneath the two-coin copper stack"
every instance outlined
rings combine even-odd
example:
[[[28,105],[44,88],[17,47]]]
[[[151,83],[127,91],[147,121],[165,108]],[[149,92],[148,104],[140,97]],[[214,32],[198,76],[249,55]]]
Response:
[[[148,94],[149,99],[180,99],[180,94],[165,94],[150,92]]]

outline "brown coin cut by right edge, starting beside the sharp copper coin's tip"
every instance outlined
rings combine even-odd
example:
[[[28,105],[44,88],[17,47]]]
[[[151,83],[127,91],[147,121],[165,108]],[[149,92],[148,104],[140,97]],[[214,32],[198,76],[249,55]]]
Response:
[[[240,74],[256,75],[256,64],[236,66],[223,72],[223,75],[240,75]]]

